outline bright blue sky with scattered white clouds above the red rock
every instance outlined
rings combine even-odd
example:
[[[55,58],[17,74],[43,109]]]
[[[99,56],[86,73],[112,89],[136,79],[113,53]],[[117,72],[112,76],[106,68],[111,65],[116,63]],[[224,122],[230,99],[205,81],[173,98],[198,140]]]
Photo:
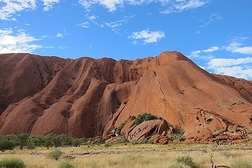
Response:
[[[0,0],[0,53],[156,56],[252,79],[252,0]]]

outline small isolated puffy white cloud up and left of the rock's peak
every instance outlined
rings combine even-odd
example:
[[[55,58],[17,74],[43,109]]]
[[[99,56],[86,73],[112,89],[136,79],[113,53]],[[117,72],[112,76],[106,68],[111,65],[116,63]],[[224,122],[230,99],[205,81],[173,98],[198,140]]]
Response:
[[[140,32],[133,32],[129,38],[135,40],[143,40],[144,43],[155,43],[158,40],[165,37],[164,32],[161,31],[149,31],[148,29],[142,30]]]

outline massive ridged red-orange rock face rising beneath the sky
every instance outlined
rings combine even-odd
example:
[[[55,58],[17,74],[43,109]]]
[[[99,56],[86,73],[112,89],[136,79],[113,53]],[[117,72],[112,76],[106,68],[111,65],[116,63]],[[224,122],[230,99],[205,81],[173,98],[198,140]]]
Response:
[[[210,74],[179,52],[135,61],[5,54],[0,68],[0,134],[107,137],[145,112],[196,142],[252,129],[252,83]]]

